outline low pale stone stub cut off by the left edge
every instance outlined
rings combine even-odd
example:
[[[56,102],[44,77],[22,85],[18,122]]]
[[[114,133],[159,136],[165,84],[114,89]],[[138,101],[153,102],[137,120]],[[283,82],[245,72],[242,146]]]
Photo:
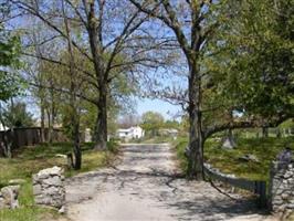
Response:
[[[19,207],[20,186],[3,187],[0,191],[0,209],[15,209]]]

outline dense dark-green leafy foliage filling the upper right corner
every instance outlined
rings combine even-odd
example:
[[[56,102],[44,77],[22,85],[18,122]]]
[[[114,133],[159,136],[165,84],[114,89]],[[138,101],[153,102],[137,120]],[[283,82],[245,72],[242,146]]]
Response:
[[[225,42],[221,90],[241,112],[266,119],[293,113],[293,13],[290,0],[242,3],[242,11],[221,32]],[[234,35],[230,32],[234,30]],[[221,46],[218,48],[220,50]],[[222,56],[222,57],[221,57]],[[225,61],[224,61],[225,60]]]

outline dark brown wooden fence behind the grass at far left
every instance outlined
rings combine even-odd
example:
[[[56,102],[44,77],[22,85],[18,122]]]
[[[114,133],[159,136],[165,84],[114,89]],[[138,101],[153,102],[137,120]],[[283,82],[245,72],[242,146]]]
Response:
[[[32,146],[40,144],[41,139],[41,128],[40,127],[28,127],[28,128],[14,128],[13,133],[11,130],[0,131],[0,147],[3,145],[4,135],[7,135],[8,141],[12,143],[12,149],[17,149],[23,146]],[[44,130],[45,140],[49,137],[49,129]],[[52,133],[53,141],[66,141],[66,136],[64,136],[61,129],[53,129]],[[0,148],[0,155],[1,155]]]

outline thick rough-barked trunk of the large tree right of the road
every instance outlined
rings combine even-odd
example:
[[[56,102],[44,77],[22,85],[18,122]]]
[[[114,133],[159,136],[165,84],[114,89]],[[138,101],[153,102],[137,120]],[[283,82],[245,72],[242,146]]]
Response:
[[[197,61],[197,60],[195,60]],[[190,65],[189,75],[189,161],[188,178],[203,180],[203,134],[201,128],[201,110],[200,110],[200,81],[198,78],[199,65],[193,62]]]

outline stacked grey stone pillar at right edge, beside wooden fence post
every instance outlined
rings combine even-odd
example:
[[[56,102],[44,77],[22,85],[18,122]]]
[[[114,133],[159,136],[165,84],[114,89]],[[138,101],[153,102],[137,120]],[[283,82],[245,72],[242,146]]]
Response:
[[[273,212],[294,212],[294,162],[273,162],[269,191]]]

